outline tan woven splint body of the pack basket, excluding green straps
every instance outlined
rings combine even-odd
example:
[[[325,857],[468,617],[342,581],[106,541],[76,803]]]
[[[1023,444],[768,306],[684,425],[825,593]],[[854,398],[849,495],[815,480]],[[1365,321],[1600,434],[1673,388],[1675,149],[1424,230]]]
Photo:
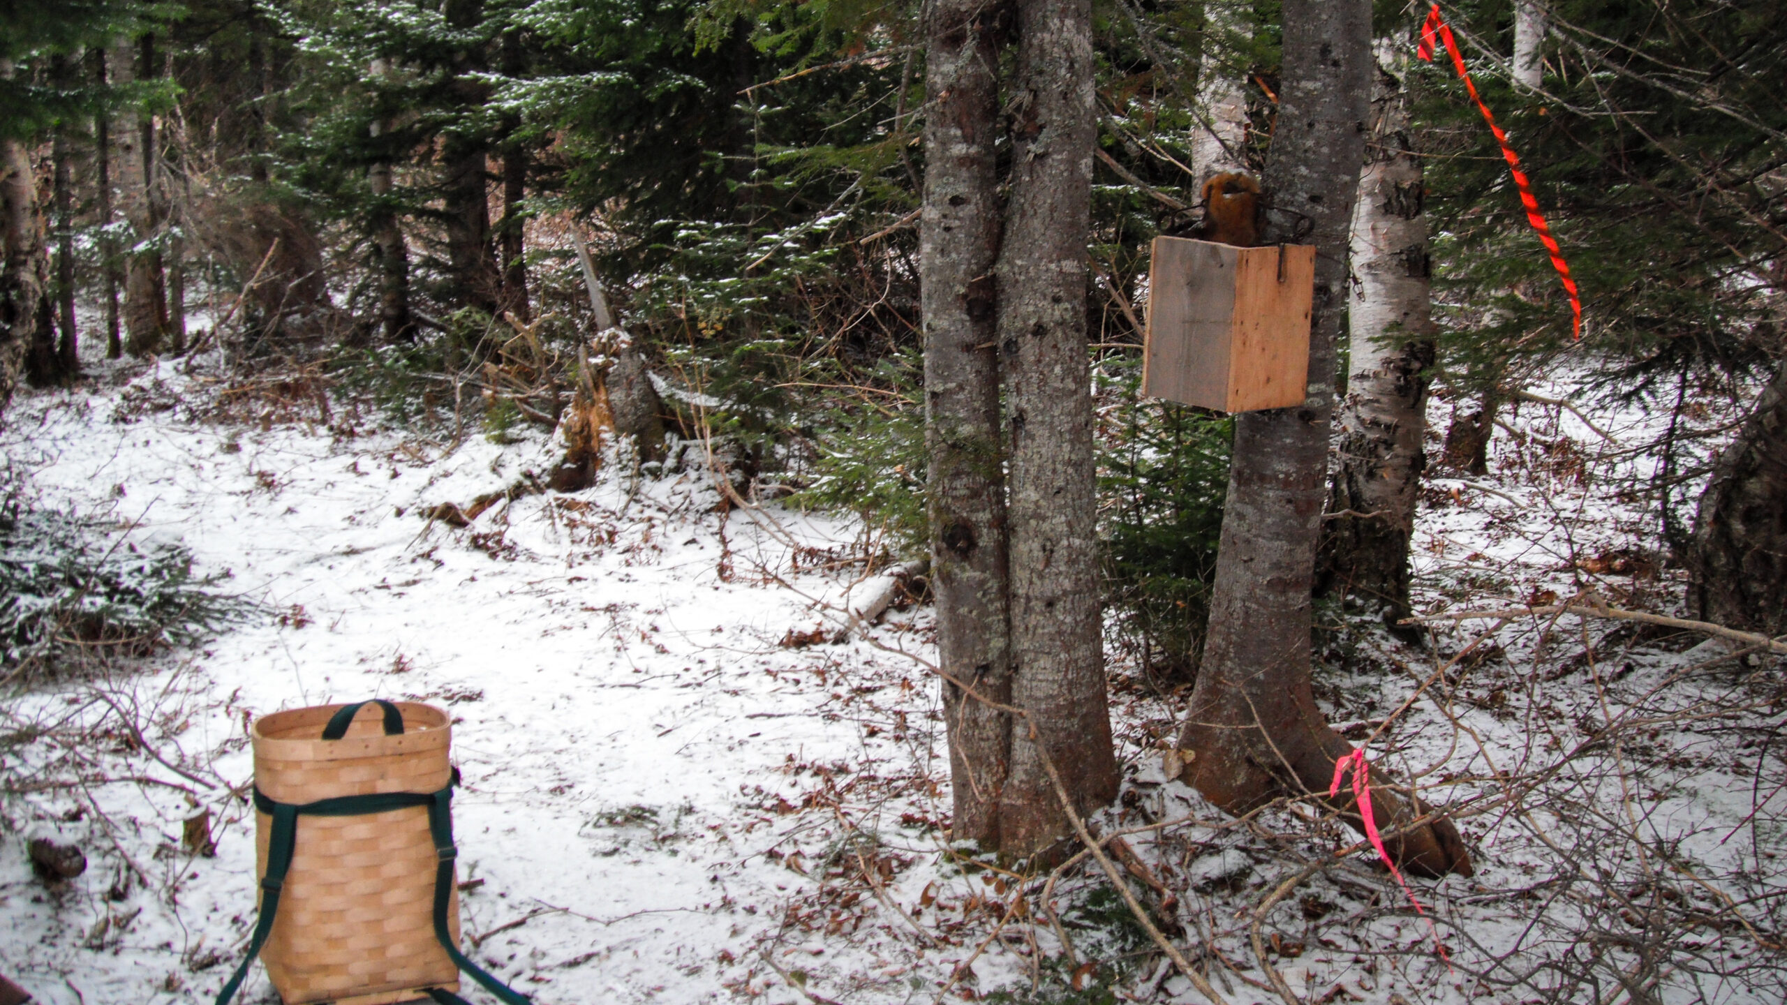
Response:
[[[399,703],[404,735],[386,737],[366,706],[340,740],[322,740],[341,708],[266,715],[254,724],[256,785],[279,803],[443,789],[447,714]],[[257,874],[266,873],[272,817],[256,814]],[[357,817],[298,817],[297,851],[261,960],[286,1005],[397,1001],[424,987],[459,987],[434,939],[434,840],[422,807]],[[447,908],[459,941],[459,894]]]

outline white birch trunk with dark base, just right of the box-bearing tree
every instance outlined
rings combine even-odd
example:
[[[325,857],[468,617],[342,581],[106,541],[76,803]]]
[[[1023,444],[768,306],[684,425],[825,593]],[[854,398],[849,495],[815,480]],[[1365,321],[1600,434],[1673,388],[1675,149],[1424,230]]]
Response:
[[[1372,127],[1353,211],[1351,372],[1340,406],[1317,594],[1351,594],[1388,624],[1408,613],[1408,536],[1426,469],[1431,265],[1406,55],[1380,41]]]

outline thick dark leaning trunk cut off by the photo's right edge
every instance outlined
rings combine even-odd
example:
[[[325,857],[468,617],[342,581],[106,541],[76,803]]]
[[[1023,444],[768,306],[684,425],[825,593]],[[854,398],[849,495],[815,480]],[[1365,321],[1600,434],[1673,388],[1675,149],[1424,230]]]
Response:
[[[1714,463],[1691,567],[1699,619],[1787,631],[1787,363]]]

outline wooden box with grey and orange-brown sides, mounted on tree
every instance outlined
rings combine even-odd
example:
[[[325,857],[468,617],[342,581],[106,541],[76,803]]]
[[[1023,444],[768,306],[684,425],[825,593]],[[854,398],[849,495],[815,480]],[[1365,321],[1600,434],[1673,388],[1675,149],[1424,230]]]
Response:
[[[1213,411],[1303,404],[1315,247],[1154,238],[1142,393]]]

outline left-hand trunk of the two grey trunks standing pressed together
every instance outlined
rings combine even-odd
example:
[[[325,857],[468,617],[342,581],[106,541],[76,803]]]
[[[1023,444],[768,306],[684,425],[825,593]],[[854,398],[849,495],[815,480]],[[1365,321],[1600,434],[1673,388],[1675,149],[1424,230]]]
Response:
[[[926,39],[919,229],[931,590],[956,840],[1001,848],[1011,699],[1010,581],[999,418],[999,5],[936,0]]]

